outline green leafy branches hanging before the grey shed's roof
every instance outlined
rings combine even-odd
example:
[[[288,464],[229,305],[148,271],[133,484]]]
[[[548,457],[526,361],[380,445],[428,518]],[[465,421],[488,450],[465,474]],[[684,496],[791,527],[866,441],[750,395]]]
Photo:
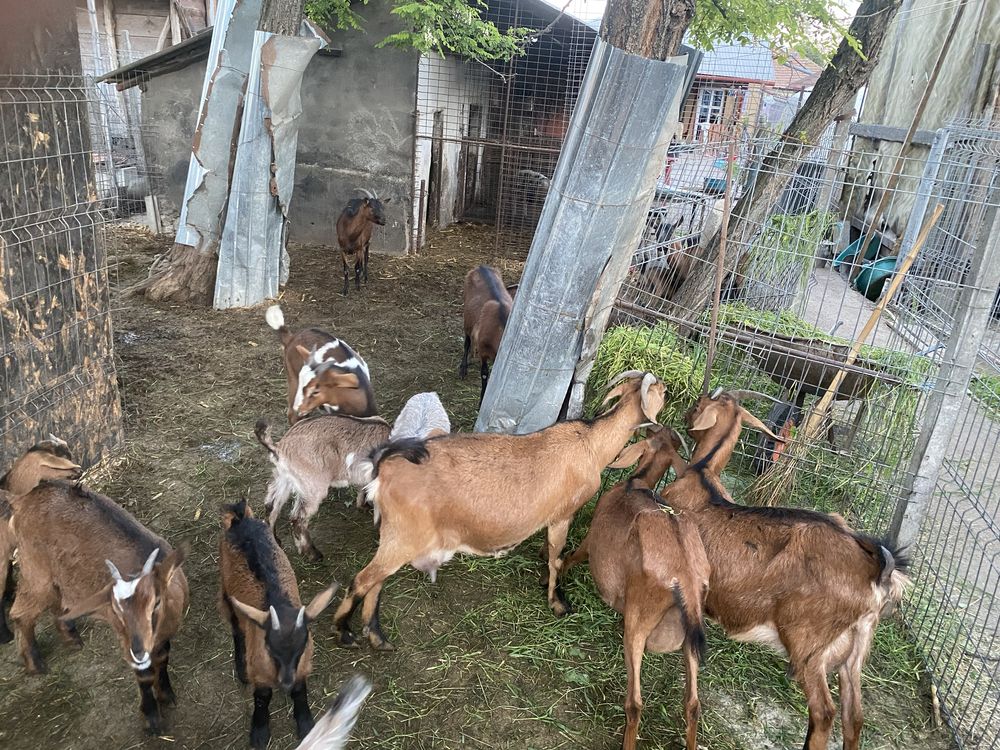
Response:
[[[361,0],[367,5],[368,0]],[[484,0],[392,0],[392,15],[403,30],[376,46],[412,48],[427,54],[452,53],[475,60],[501,60],[523,55],[535,30],[497,28],[483,17]],[[306,0],[306,15],[336,29],[360,31],[364,19],[350,0]]]

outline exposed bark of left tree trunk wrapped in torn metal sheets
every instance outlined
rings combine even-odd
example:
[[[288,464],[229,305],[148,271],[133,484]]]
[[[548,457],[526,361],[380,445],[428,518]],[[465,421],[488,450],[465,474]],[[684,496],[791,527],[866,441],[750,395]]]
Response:
[[[265,0],[259,21],[260,29],[295,36],[302,22],[303,5],[304,0]],[[236,118],[229,159],[230,171],[239,141],[238,113]],[[200,127],[199,125],[199,130]],[[196,138],[202,139],[200,133],[196,132]],[[224,167],[218,171],[220,175],[223,173]],[[212,219],[207,223],[215,226],[211,231],[201,233],[197,246],[174,244],[170,254],[150,270],[149,278],[133,287],[131,291],[144,293],[152,300],[170,300],[196,305],[211,304],[219,262],[218,239],[225,222],[227,199],[228,190],[218,192],[218,198],[211,201],[212,206],[207,213]],[[216,206],[215,203],[220,200],[221,203]]]

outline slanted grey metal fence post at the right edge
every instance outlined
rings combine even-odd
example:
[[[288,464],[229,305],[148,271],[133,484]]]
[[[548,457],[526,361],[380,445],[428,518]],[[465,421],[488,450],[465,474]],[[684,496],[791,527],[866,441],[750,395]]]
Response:
[[[1000,216],[995,199],[989,203],[969,268],[969,283],[959,298],[955,325],[889,529],[889,538],[901,547],[912,547],[920,534],[1000,287]]]

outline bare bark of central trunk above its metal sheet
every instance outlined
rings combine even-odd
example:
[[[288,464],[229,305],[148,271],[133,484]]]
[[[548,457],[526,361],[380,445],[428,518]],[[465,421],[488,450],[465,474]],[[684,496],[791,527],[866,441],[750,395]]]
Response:
[[[681,48],[694,0],[609,0],[601,38],[633,55],[666,60]]]

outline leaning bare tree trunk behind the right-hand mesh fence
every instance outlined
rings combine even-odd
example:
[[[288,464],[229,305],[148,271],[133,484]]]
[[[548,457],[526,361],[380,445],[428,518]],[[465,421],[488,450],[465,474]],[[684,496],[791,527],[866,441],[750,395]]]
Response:
[[[729,222],[730,237],[749,237],[756,227],[767,220],[802,154],[819,140],[835,118],[851,113],[858,90],[868,82],[875,68],[899,4],[900,0],[862,2],[850,32],[861,43],[865,57],[855,52],[846,41],[840,43],[837,53],[816,81],[805,106],[785,129],[782,142],[764,159],[753,188],[740,198],[733,209]],[[718,257],[719,235],[716,234],[705,251],[705,262],[696,265],[674,297],[672,315],[684,321],[693,321],[705,309],[712,297]],[[740,253],[728,253],[725,273],[732,273],[739,261]]]

